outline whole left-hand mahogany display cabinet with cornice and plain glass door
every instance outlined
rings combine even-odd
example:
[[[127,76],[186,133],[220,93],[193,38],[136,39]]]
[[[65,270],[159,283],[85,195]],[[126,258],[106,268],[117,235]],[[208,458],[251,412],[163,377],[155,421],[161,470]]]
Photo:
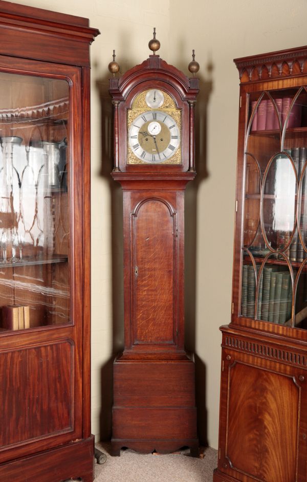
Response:
[[[0,479],[92,482],[84,239],[99,32],[2,1],[0,31]]]

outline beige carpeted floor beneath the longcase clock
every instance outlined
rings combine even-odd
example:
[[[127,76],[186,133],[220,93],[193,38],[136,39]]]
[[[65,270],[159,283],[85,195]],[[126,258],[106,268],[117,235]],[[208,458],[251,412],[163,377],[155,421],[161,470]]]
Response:
[[[95,464],[95,482],[212,482],[217,466],[217,451],[211,448],[204,448],[196,458],[190,457],[188,450],[142,455],[130,449],[121,450],[120,457],[112,457],[108,444],[96,447],[107,458],[104,464]]]

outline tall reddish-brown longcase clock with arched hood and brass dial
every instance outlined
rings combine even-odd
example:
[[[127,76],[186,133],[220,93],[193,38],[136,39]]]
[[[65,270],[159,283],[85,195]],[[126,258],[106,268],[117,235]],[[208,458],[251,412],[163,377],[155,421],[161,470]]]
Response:
[[[110,79],[112,176],[123,190],[124,235],[124,350],[114,363],[114,455],[122,447],[142,453],[198,448],[195,369],[184,350],[183,306],[184,191],[195,176],[198,90],[198,79],[156,53]]]

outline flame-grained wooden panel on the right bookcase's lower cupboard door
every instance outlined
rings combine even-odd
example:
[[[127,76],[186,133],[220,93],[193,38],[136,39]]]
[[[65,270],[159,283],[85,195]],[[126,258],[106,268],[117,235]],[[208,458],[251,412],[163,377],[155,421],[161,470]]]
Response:
[[[291,376],[229,368],[226,456],[233,468],[266,482],[296,480],[299,400]]]

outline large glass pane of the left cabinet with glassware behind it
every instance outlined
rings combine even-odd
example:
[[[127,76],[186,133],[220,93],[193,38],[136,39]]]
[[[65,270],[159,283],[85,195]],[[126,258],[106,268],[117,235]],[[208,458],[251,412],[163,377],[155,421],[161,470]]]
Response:
[[[70,323],[69,84],[0,73],[1,330]]]

